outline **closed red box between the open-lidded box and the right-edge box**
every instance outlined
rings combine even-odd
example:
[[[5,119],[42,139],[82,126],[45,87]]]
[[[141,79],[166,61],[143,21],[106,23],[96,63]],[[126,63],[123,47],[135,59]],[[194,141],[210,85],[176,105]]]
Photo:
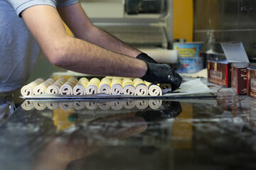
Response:
[[[247,67],[256,67],[256,63],[231,64],[231,86],[236,94],[247,94]]]

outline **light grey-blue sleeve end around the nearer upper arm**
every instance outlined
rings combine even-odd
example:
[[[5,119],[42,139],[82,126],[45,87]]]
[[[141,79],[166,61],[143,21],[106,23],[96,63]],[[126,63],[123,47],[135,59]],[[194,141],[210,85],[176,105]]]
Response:
[[[54,8],[56,8],[57,0],[7,0],[7,1],[9,1],[11,6],[13,6],[17,15],[19,17],[21,17],[21,12],[31,6],[48,5],[48,6],[53,6]]]

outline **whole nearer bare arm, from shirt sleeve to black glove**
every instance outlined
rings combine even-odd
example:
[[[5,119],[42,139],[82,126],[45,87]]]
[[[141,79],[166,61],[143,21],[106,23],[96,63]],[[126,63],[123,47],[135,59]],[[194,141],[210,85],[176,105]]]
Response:
[[[77,15],[75,11],[70,12],[69,19]],[[21,16],[48,60],[58,67],[85,74],[119,77],[143,77],[146,73],[146,63],[142,60],[68,36],[58,11],[52,6],[32,6],[24,10]],[[77,33],[79,30],[75,31]]]

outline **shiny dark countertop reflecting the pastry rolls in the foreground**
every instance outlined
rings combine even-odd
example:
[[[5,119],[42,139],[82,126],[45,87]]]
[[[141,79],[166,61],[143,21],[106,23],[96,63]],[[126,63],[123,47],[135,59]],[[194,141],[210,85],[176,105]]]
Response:
[[[256,100],[24,101],[0,127],[0,169],[255,169]]]

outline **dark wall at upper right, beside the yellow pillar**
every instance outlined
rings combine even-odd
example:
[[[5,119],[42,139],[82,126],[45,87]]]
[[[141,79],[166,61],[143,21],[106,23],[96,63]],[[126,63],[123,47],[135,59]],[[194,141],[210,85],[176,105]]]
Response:
[[[256,0],[194,0],[194,41],[241,41],[250,59],[256,57]]]

